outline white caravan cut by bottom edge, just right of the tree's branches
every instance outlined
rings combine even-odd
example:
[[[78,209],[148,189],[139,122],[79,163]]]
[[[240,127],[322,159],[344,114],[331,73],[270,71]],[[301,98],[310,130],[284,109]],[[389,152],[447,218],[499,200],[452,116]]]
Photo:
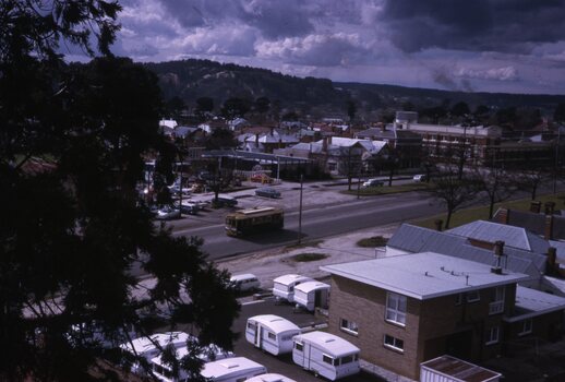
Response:
[[[205,363],[200,373],[212,382],[241,382],[266,372],[267,368],[263,365],[236,357]]]

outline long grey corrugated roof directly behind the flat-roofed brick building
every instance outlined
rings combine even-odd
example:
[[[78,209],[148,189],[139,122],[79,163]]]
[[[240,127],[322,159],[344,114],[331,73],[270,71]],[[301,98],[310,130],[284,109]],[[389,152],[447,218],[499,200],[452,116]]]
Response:
[[[504,240],[504,237],[497,240]],[[472,246],[466,237],[409,224],[402,224],[396,230],[388,240],[387,247],[412,253],[433,251],[494,265],[493,251]],[[509,271],[525,273],[532,278],[539,278],[545,271],[546,256],[544,254],[512,247],[505,247],[504,254],[503,266]]]

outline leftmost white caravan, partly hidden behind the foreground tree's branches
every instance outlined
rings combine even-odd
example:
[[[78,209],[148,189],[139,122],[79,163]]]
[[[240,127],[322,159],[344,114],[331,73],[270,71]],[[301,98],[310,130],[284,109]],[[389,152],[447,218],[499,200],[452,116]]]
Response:
[[[120,347],[135,356],[144,357],[147,361],[161,354],[161,349],[172,344],[176,349],[187,347],[187,339],[190,335],[184,332],[166,332],[152,334],[148,337],[139,337],[132,339],[131,343],[121,344]],[[160,348],[159,348],[160,347]],[[133,372],[140,372],[141,366],[134,363]]]

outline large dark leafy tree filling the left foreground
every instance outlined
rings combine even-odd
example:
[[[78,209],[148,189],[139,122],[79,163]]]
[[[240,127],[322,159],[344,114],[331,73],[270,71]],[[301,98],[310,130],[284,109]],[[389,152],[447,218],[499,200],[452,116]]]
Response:
[[[187,323],[201,346],[232,346],[229,275],[202,240],[155,227],[136,191],[164,153],[157,77],[110,55],[120,7],[5,0],[0,12],[0,380],[116,380],[120,344]],[[104,57],[67,65],[61,43]],[[155,279],[140,290],[135,266]],[[182,295],[190,296],[190,300]],[[100,341],[103,339],[103,341]],[[141,359],[137,359],[141,361]],[[197,373],[201,362],[183,360]],[[145,366],[146,362],[144,363]]]

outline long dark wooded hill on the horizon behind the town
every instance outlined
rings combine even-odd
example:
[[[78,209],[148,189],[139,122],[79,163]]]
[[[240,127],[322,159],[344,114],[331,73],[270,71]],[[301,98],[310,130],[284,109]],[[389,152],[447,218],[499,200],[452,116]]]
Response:
[[[378,108],[400,109],[407,103],[416,108],[432,107],[445,102],[452,105],[466,102],[471,108],[478,105],[490,107],[534,107],[543,114],[552,114],[565,96],[528,95],[505,93],[465,93],[394,85],[332,82],[326,79],[297,77],[266,69],[219,63],[209,60],[183,60],[145,63],[160,79],[166,99],[179,96],[188,105],[199,97],[211,97],[216,107],[230,98],[249,100],[268,97],[281,109],[302,114],[346,115],[346,103],[353,99],[358,114],[372,112]]]

